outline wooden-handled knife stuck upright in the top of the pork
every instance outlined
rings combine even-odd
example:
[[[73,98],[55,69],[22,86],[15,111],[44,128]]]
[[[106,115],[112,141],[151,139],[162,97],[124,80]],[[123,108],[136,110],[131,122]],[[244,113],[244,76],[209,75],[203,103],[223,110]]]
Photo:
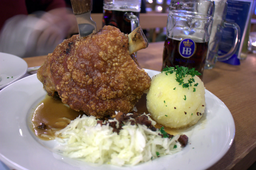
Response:
[[[71,5],[77,19],[79,36],[97,33],[96,23],[91,18],[92,0],[71,0]]]

